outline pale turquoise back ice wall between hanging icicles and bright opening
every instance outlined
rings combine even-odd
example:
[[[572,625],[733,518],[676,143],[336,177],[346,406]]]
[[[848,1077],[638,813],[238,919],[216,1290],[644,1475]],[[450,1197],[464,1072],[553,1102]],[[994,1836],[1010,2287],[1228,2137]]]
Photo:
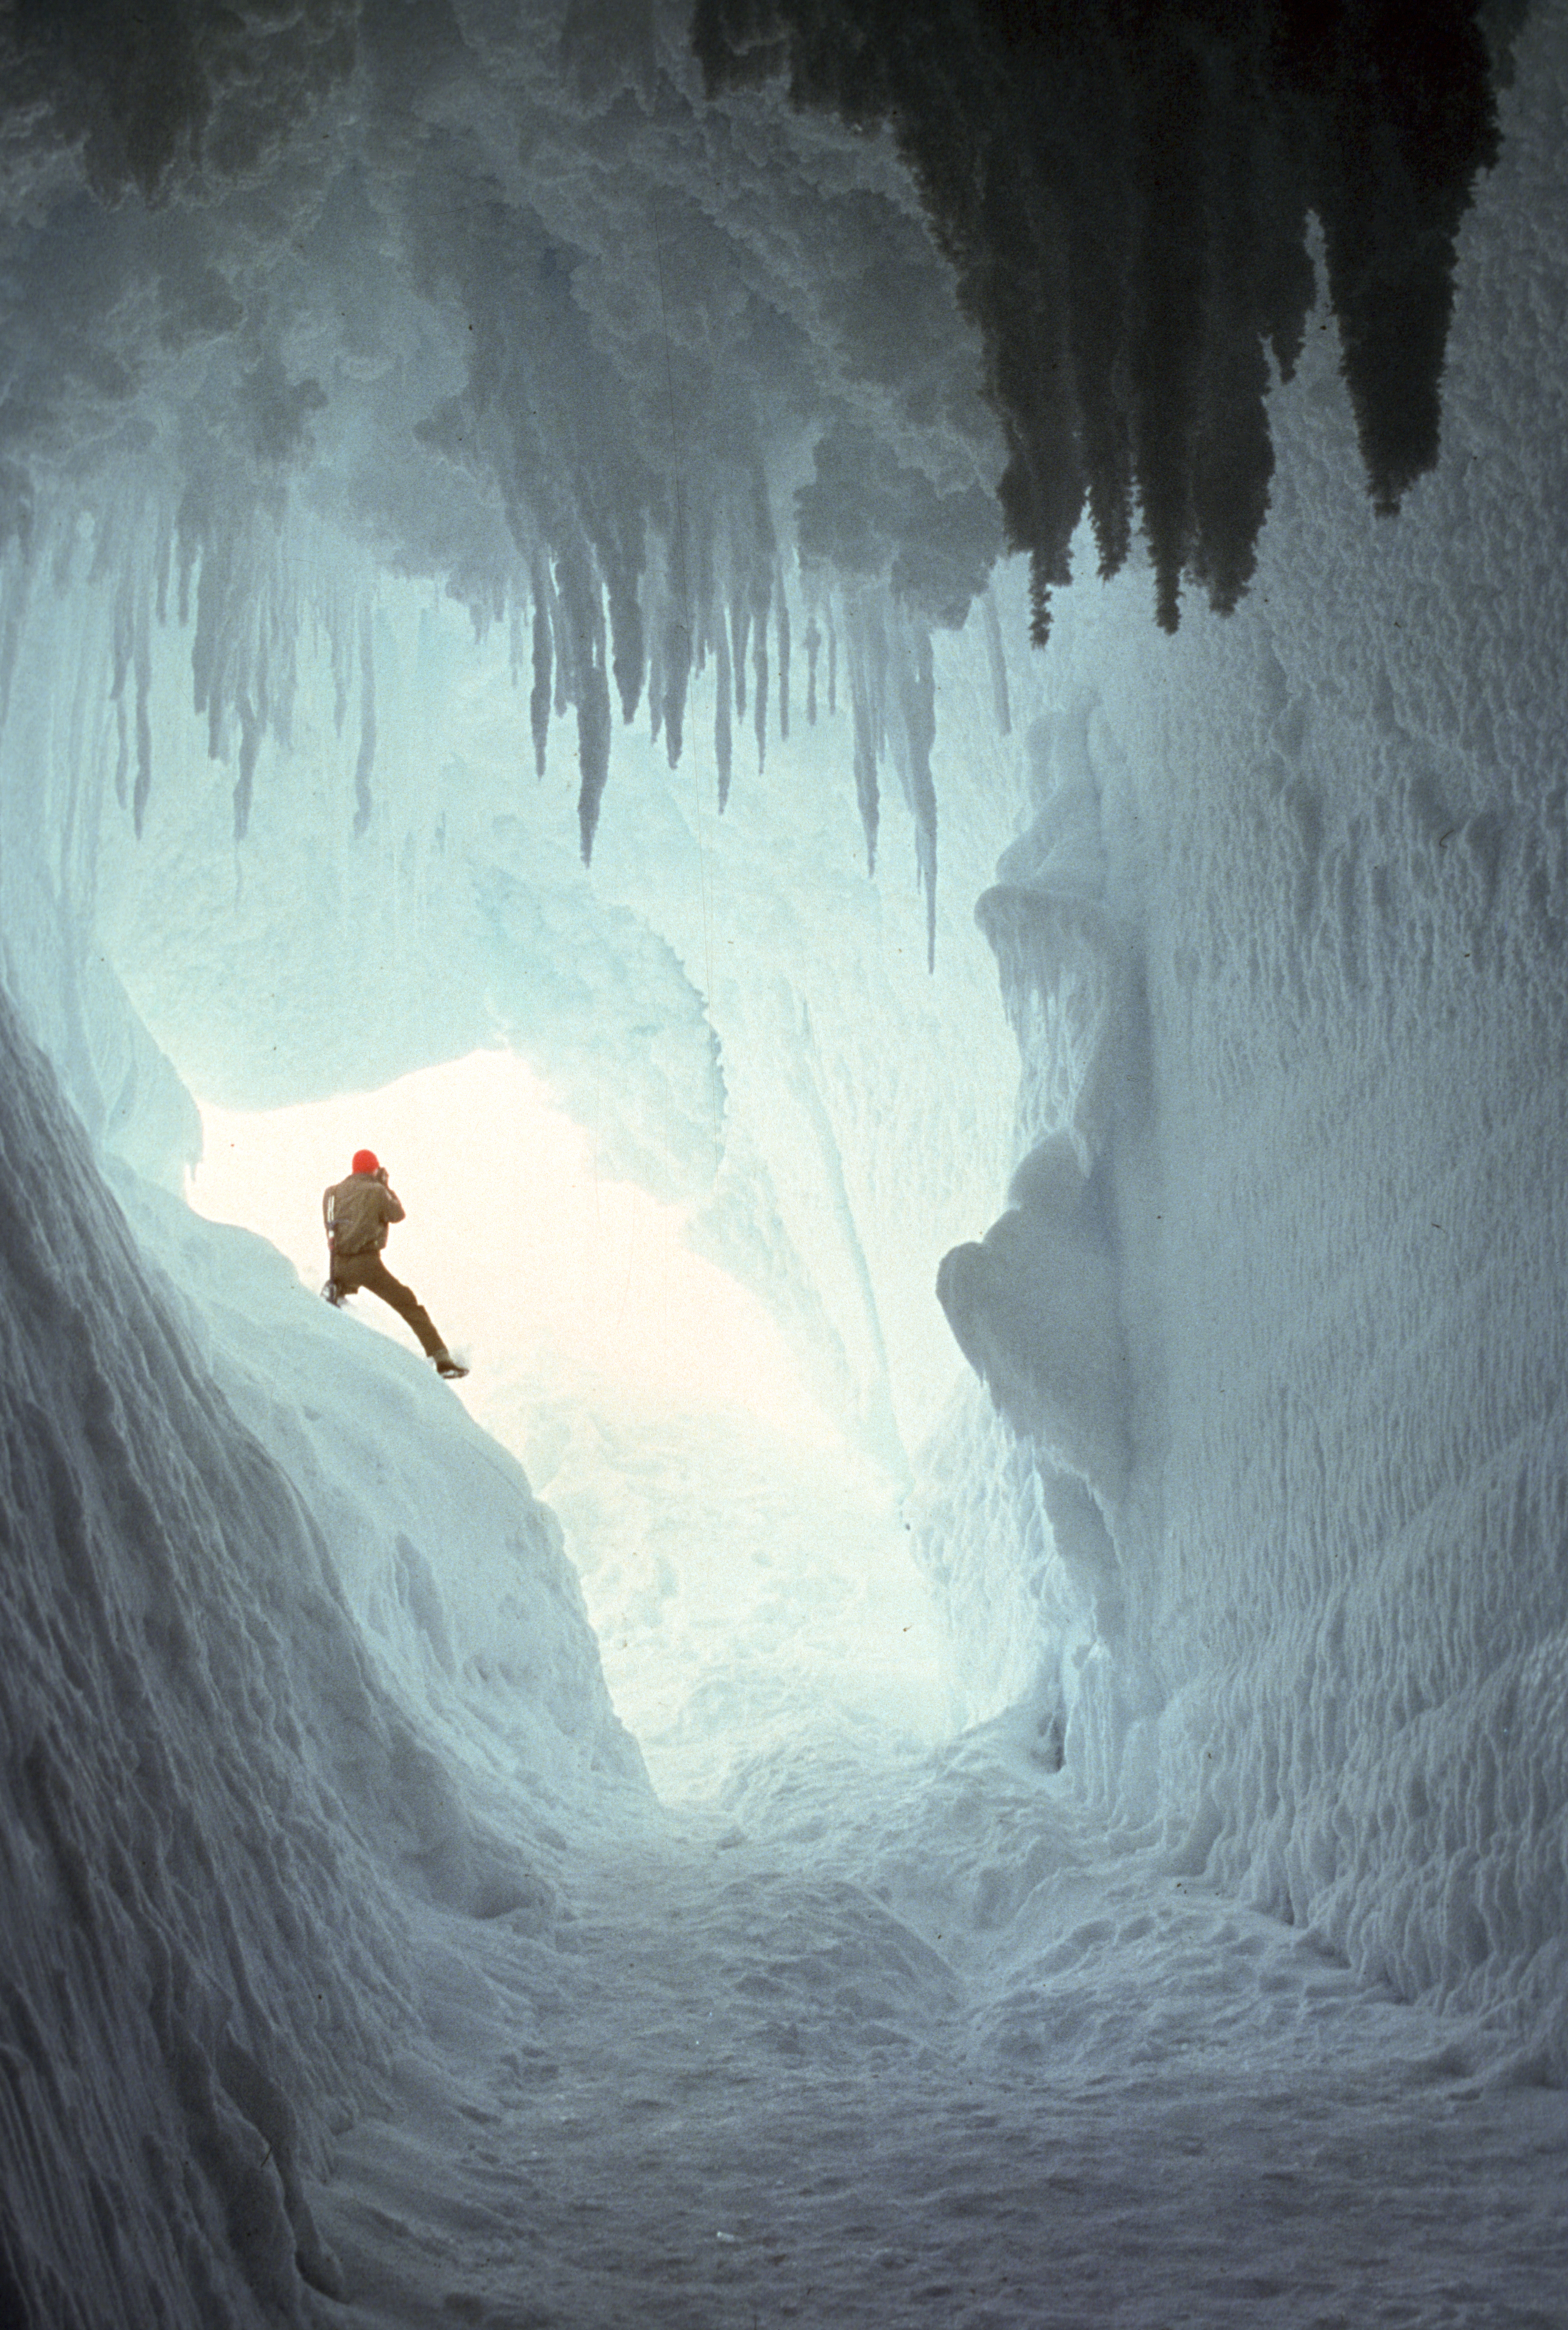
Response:
[[[296,559],[326,578],[333,555],[352,550],[317,538]],[[23,634],[37,669],[61,666],[79,692],[93,685],[75,659],[93,659],[98,596],[82,562],[77,589],[40,594]],[[781,603],[804,617],[799,576]],[[822,620],[843,620],[839,594]],[[692,1209],[692,1240],[762,1291],[822,1398],[902,1475],[955,1372],[930,1258],[1007,1167],[1013,1053],[969,902],[1023,785],[983,627],[934,645],[944,727],[930,767],[948,818],[937,976],[918,818],[897,790],[878,878],[867,874],[848,694],[822,685],[815,720],[797,701],[785,722],[774,692],[764,746],[736,746],[722,816],[713,671],[692,680],[678,769],[648,715],[617,727],[617,813],[585,869],[571,732],[555,727],[543,778],[517,769],[527,669],[506,631],[475,641],[450,599],[384,580],[375,641],[363,832],[356,739],[336,727],[326,643],[305,638],[291,746],[261,746],[235,848],[228,771],[189,708],[191,634],[172,617],[154,627],[158,785],[137,832],[105,722],[89,748],[82,816],[98,841],[77,909],[144,1025],[203,1097],[238,1107],[510,1046],[592,1132],[599,1170]],[[107,687],[110,664],[96,676]],[[9,750],[54,788],[49,704],[14,692]],[[529,1207],[527,1158],[475,1153],[461,1121],[438,1130],[443,1202]],[[149,1146],[144,1123],[137,1153]]]

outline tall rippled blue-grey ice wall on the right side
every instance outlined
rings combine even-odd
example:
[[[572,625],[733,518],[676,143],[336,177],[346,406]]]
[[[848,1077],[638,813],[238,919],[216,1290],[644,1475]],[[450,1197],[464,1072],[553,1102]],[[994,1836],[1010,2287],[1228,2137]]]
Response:
[[[1398,524],[1349,482],[1316,317],[1239,613],[1156,655],[1121,587],[1062,603],[1039,816],[981,902],[1025,1160],[944,1286],[1034,1494],[1079,1484],[1053,1561],[1013,1517],[969,1624],[995,1596],[1016,1675],[1037,1596],[1083,1787],[1556,2074],[1566,100],[1549,12]]]

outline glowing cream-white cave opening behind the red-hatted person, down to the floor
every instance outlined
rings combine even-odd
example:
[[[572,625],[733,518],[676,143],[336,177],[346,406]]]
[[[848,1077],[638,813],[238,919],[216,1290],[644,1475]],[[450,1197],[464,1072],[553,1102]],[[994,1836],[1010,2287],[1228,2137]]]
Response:
[[[955,1708],[899,1484],[813,1396],[764,1305],[685,1214],[596,1170],[594,1139],[501,1051],[380,1093],[203,1107],[191,1205],[326,1275],[322,1191],[375,1149],[408,1209],[387,1247],[473,1363],[454,1386],[559,1514],[615,1708],[659,1792],[736,1748],[841,1720],[906,1741]],[[415,1351],[370,1295],[356,1323]]]

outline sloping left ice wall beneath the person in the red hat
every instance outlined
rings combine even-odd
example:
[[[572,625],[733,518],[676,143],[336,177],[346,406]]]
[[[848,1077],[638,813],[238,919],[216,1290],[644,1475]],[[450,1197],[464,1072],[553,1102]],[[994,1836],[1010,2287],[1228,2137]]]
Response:
[[[548,1932],[641,1768],[445,1389],[126,1179],[137,1244],[9,1002],[0,1088],[0,2311],[303,2323],[408,1904]]]

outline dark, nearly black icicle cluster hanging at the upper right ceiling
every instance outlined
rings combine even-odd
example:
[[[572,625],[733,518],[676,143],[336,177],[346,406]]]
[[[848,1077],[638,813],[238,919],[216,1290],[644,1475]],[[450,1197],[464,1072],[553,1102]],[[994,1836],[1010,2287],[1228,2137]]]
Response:
[[[797,105],[890,123],[986,343],[1044,641],[1086,510],[1102,576],[1137,513],[1170,631],[1184,578],[1221,610],[1246,589],[1267,356],[1291,375],[1314,298],[1309,212],[1368,489],[1393,510],[1433,466],[1454,238],[1519,14],[699,0],[692,40],[708,91],[787,77]]]

